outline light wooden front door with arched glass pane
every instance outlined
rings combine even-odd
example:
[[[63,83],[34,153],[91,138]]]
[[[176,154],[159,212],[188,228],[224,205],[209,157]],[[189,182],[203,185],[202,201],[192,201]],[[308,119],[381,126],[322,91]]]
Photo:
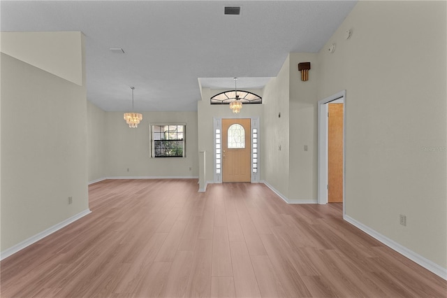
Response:
[[[222,182],[250,182],[250,119],[222,119]]]

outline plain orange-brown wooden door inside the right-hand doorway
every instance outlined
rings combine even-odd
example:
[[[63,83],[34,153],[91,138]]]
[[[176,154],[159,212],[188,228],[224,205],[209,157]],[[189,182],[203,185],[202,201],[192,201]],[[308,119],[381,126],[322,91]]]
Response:
[[[343,104],[328,104],[328,202],[343,201]]]

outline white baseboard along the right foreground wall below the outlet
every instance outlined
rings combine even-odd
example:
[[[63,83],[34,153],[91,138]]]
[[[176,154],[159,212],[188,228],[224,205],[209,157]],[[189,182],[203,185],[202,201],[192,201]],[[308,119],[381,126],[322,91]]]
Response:
[[[363,225],[361,222],[358,222],[357,220],[349,217],[348,215],[344,215],[343,219],[346,220],[347,222],[349,222],[351,225],[357,227],[358,229],[361,229],[363,232],[365,232],[369,236],[372,236],[374,239],[381,241],[381,243],[385,244],[389,248],[397,251],[397,253],[404,255],[404,257],[408,257],[413,262],[419,264],[420,266],[424,267],[425,269],[427,269],[429,271],[432,271],[437,276],[447,280],[447,269],[446,268],[443,268],[443,267],[439,266],[438,264],[435,264],[434,262],[427,260],[422,255],[418,255],[417,253],[413,252],[412,250],[409,250],[408,248],[389,239],[388,237],[383,236],[382,234],[374,231],[374,229],[371,229],[370,227]]]

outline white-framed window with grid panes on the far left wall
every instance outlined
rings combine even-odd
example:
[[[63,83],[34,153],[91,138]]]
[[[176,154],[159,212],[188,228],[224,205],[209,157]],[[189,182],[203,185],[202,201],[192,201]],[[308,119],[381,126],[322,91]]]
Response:
[[[151,157],[186,157],[186,125],[150,125]]]

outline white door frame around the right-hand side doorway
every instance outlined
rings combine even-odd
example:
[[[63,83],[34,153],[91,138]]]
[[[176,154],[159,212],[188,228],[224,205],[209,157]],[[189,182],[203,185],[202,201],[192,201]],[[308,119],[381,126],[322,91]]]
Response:
[[[346,202],[346,90],[318,101],[318,204],[328,203],[328,104],[343,103],[343,215]]]

